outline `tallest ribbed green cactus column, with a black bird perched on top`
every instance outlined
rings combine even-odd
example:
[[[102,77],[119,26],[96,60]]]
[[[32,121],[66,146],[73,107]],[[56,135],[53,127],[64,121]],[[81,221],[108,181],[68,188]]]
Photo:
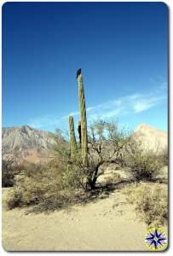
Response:
[[[84,100],[84,85],[83,77],[80,73],[78,75],[78,96],[80,106],[80,119],[81,119],[81,151],[84,164],[88,164],[88,137],[87,137],[87,119],[86,108]]]

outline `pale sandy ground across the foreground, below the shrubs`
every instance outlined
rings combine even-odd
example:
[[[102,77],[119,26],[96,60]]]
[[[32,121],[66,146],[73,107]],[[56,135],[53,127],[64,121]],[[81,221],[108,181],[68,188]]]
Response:
[[[3,211],[3,247],[10,251],[147,250],[146,230],[120,191],[49,215]]]

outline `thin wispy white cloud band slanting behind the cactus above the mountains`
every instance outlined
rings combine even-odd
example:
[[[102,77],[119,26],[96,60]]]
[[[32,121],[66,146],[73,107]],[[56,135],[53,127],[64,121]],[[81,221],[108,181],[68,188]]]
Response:
[[[95,119],[112,119],[126,114],[138,114],[147,111],[150,108],[158,106],[167,98],[166,83],[159,84],[154,90],[146,94],[136,93],[129,96],[119,97],[109,102],[87,108],[87,116],[89,121]],[[29,125],[35,128],[43,127],[66,127],[68,115],[72,115],[77,121],[79,119],[79,112],[73,111],[61,117],[47,116],[41,119],[32,119]]]

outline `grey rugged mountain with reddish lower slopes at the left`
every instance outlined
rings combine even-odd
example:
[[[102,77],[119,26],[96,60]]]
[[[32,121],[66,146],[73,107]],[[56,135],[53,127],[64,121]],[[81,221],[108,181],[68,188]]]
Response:
[[[28,125],[3,128],[3,158],[12,154],[18,160],[36,162],[48,155],[56,144],[55,135],[34,129]]]

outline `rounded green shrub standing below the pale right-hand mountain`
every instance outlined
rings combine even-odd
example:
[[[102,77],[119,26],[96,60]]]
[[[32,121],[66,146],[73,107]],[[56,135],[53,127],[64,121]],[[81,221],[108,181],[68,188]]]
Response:
[[[145,150],[137,143],[131,143],[124,157],[125,166],[131,176],[139,181],[152,181],[157,177],[160,169],[164,166],[159,155],[151,150]]]

